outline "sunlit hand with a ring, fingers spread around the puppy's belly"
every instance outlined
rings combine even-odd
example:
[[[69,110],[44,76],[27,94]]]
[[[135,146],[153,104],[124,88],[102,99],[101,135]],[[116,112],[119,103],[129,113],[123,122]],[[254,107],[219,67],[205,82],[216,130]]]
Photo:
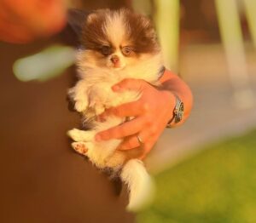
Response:
[[[143,159],[166,128],[166,123],[172,118],[175,96],[169,91],[155,89],[149,83],[137,79],[125,79],[113,86],[115,92],[123,90],[137,90],[142,96],[137,101],[108,109],[101,117],[114,115],[135,118],[96,134],[96,140],[125,138],[118,149],[130,150],[143,146],[143,155],[139,157]],[[143,140],[143,145],[137,136]]]

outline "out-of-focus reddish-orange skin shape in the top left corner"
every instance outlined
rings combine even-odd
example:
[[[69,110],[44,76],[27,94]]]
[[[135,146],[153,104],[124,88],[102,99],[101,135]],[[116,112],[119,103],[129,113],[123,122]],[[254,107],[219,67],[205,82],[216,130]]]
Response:
[[[0,41],[29,43],[48,37],[66,24],[65,0],[1,0]]]

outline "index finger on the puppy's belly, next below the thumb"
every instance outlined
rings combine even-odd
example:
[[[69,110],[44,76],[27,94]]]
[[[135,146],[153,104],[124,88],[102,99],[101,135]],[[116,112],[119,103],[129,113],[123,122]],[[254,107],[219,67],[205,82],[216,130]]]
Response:
[[[104,111],[101,117],[108,117],[110,115],[117,117],[137,117],[143,113],[146,113],[148,109],[148,103],[143,103],[141,100],[136,100],[121,106],[110,108]]]

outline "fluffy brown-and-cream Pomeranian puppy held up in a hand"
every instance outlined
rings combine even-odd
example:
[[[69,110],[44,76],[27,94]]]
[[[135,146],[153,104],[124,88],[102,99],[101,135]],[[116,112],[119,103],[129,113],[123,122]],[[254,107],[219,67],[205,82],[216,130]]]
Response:
[[[117,150],[122,139],[95,140],[98,132],[124,123],[127,118],[111,116],[98,122],[96,117],[110,107],[138,100],[141,95],[131,90],[113,92],[114,84],[136,78],[158,85],[163,63],[154,28],[147,17],[128,9],[100,9],[84,20],[81,43],[77,54],[79,82],[68,94],[84,122],[90,122],[92,127],[86,131],[72,129],[68,135],[74,140],[73,148],[97,168],[119,173],[130,192],[127,208],[140,209],[152,190],[143,162],[131,152]]]

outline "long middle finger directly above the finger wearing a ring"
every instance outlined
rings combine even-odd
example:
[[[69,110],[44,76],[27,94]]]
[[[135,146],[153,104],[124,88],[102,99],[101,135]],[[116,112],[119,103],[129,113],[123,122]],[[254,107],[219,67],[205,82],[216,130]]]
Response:
[[[129,122],[96,134],[96,140],[121,139],[131,134],[137,134],[143,129],[144,124],[145,118],[137,117]]]

